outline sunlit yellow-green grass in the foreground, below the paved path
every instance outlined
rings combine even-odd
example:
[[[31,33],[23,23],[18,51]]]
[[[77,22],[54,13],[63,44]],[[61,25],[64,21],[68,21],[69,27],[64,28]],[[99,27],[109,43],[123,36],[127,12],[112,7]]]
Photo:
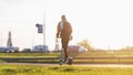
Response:
[[[0,75],[133,75],[133,68],[0,64]]]

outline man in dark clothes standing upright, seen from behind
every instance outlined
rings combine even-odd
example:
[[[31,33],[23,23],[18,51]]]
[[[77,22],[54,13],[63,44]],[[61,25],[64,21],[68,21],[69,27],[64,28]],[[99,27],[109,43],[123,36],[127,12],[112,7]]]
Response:
[[[65,15],[61,17],[61,21],[58,23],[57,38],[61,38],[62,49],[64,51],[64,62],[68,60],[68,44],[71,38],[72,26],[66,21]]]

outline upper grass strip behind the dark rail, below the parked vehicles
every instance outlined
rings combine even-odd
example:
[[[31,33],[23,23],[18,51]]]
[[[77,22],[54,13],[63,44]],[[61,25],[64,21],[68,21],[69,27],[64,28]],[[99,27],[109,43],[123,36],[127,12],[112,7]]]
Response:
[[[0,53],[0,57],[23,57],[23,56],[38,56],[38,57],[44,57],[44,56],[59,56],[60,53]],[[92,51],[92,52],[85,52],[85,53],[71,53],[71,56],[84,56],[84,57],[91,57],[91,56],[116,56],[116,55],[126,55],[126,56],[133,56],[133,51],[115,51],[115,52],[96,52],[96,51]]]

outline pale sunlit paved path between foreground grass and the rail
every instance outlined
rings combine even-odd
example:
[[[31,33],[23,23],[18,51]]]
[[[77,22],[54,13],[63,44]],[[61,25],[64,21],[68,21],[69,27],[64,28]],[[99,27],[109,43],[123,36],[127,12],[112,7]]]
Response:
[[[39,65],[39,66],[60,66],[59,64],[40,64],[40,63],[0,63],[0,64],[17,64],[17,65]],[[91,66],[91,67],[131,67],[132,64],[72,64],[71,66]]]

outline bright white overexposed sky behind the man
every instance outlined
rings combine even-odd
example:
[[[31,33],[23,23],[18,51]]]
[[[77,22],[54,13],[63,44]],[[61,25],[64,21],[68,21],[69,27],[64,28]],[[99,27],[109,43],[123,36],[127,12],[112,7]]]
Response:
[[[9,31],[13,46],[43,44],[35,28],[40,23],[45,24],[45,44],[53,50],[62,14],[73,28],[70,44],[88,39],[95,49],[133,46],[132,0],[0,0],[0,45],[7,45]]]

